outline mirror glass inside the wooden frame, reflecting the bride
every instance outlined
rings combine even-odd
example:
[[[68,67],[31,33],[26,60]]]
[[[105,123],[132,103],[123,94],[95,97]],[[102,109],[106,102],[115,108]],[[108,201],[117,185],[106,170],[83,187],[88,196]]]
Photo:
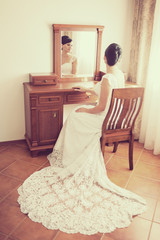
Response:
[[[70,74],[94,76],[96,67],[97,33],[62,31],[61,77]],[[89,44],[88,44],[89,43]]]

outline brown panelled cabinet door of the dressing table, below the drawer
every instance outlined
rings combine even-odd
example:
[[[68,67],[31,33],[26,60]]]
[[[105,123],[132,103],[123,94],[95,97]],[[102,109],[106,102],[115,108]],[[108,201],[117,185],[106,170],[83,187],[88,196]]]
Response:
[[[63,105],[38,109],[38,145],[53,144],[63,123]]]

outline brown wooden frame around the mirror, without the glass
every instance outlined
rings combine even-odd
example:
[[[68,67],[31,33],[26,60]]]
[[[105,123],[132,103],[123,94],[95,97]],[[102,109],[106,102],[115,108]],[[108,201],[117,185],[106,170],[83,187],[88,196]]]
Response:
[[[96,31],[97,32],[97,52],[94,80],[101,79],[100,56],[102,44],[102,32],[104,26],[98,25],[71,25],[71,24],[53,24],[53,72],[58,76],[59,81],[83,81],[82,77],[62,78],[61,77],[61,32],[62,31]]]

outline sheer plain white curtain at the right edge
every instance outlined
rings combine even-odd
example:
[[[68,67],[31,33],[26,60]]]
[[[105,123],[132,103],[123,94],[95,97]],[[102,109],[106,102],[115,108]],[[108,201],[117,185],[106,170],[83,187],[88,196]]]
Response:
[[[154,25],[140,131],[144,147],[160,154],[160,0],[156,0]]]

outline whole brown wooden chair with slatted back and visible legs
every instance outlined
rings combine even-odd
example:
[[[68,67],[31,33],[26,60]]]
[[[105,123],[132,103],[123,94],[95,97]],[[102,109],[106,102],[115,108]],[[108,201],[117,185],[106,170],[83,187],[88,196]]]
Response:
[[[102,125],[101,149],[104,156],[105,146],[129,141],[129,169],[133,169],[134,123],[142,106],[144,88],[119,88],[112,90],[109,111]]]

